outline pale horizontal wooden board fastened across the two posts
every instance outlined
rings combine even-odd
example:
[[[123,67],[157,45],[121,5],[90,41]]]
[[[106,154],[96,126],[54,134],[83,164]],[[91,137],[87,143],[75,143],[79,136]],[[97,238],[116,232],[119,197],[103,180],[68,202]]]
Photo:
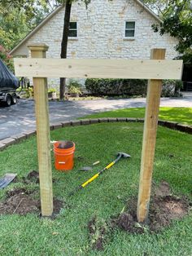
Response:
[[[181,79],[182,60],[14,59],[17,77]]]

